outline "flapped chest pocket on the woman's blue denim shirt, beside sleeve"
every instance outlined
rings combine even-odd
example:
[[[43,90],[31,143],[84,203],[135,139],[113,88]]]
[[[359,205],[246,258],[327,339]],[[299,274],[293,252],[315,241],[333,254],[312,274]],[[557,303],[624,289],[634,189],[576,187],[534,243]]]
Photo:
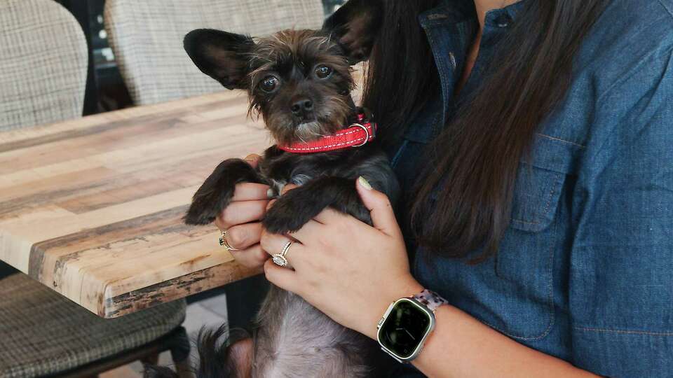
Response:
[[[555,257],[568,246],[566,182],[582,146],[536,135],[533,153],[519,167],[510,227],[495,258],[501,295],[491,327],[519,340],[542,339],[555,322]]]

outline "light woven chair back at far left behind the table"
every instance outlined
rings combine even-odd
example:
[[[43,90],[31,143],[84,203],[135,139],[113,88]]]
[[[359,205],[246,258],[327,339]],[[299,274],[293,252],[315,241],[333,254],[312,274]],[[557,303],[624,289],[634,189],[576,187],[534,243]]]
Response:
[[[55,1],[0,1],[0,131],[80,117],[88,52]]]

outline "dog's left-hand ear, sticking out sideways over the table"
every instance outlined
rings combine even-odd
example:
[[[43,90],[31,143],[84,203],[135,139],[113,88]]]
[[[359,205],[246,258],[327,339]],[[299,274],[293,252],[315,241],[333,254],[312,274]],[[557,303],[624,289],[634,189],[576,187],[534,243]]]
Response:
[[[184,50],[198,69],[228,89],[245,89],[245,75],[254,47],[250,36],[214,29],[196,29],[184,36]]]

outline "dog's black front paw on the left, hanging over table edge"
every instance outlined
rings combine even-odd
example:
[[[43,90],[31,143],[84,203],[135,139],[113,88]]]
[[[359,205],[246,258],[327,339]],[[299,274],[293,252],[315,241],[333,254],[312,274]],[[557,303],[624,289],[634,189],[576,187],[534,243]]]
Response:
[[[215,221],[217,215],[229,206],[236,184],[244,182],[264,181],[245,160],[229,159],[219,163],[215,171],[194,193],[189,210],[184,216],[184,223],[207,225]]]

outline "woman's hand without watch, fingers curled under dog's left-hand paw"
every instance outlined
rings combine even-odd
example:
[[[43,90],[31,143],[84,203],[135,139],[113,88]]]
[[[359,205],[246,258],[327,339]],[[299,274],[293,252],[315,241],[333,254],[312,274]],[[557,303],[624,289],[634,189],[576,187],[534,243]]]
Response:
[[[248,155],[245,160],[256,167],[259,155]],[[238,249],[230,251],[240,265],[257,268],[264,265],[268,254],[259,245],[261,223],[266,214],[269,187],[258,183],[240,183],[236,186],[231,204],[215,218],[215,225],[226,230],[226,242]]]

